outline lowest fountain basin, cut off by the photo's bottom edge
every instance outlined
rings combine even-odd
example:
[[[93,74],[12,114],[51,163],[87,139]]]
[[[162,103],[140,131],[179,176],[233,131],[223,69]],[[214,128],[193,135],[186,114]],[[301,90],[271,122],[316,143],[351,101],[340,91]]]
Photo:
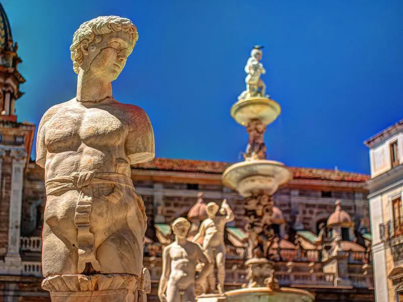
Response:
[[[281,287],[270,289],[267,287],[242,288],[225,292],[228,302],[313,302],[315,296],[309,291]]]

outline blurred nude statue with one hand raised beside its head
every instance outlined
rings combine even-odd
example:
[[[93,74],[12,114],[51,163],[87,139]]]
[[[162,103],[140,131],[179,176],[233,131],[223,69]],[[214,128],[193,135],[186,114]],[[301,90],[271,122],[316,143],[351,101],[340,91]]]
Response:
[[[226,249],[224,244],[224,230],[225,224],[235,219],[234,212],[224,199],[221,204],[220,214],[217,215],[219,205],[215,202],[209,202],[206,206],[206,212],[209,218],[201,222],[200,229],[196,236],[193,238],[193,242],[197,242],[200,237],[204,237],[203,247],[206,250],[210,259],[215,259],[218,269],[218,285],[217,289],[219,293],[224,291],[225,281],[225,255]],[[210,291],[216,288],[216,276],[214,271],[209,275],[209,287]]]

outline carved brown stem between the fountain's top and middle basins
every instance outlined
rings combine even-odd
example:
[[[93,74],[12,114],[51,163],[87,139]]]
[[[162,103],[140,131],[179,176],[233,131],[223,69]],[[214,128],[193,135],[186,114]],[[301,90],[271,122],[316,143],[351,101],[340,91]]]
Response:
[[[266,159],[266,145],[264,144],[264,131],[266,124],[258,119],[251,120],[247,123],[246,131],[249,134],[246,151],[243,155],[246,161],[264,160]]]

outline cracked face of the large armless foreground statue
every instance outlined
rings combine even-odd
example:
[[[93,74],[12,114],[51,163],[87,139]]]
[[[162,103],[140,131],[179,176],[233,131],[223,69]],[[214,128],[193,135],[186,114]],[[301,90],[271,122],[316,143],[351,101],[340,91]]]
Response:
[[[112,82],[123,70],[131,51],[130,35],[123,31],[98,36],[88,45],[87,66],[83,66],[84,71],[106,82]]]

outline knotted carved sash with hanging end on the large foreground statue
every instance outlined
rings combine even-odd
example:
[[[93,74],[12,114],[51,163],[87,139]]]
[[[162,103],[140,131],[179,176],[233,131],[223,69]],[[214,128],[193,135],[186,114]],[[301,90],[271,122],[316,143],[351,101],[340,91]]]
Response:
[[[69,176],[54,177],[45,182],[47,195],[61,195],[71,190],[77,190],[80,193],[74,217],[78,231],[78,273],[84,272],[87,263],[91,263],[96,271],[101,271],[101,266],[95,257],[94,234],[90,231],[93,185],[97,184],[115,185],[114,190],[105,196],[112,203],[117,203],[121,199],[123,188],[133,188],[129,177],[112,172],[74,172]]]

